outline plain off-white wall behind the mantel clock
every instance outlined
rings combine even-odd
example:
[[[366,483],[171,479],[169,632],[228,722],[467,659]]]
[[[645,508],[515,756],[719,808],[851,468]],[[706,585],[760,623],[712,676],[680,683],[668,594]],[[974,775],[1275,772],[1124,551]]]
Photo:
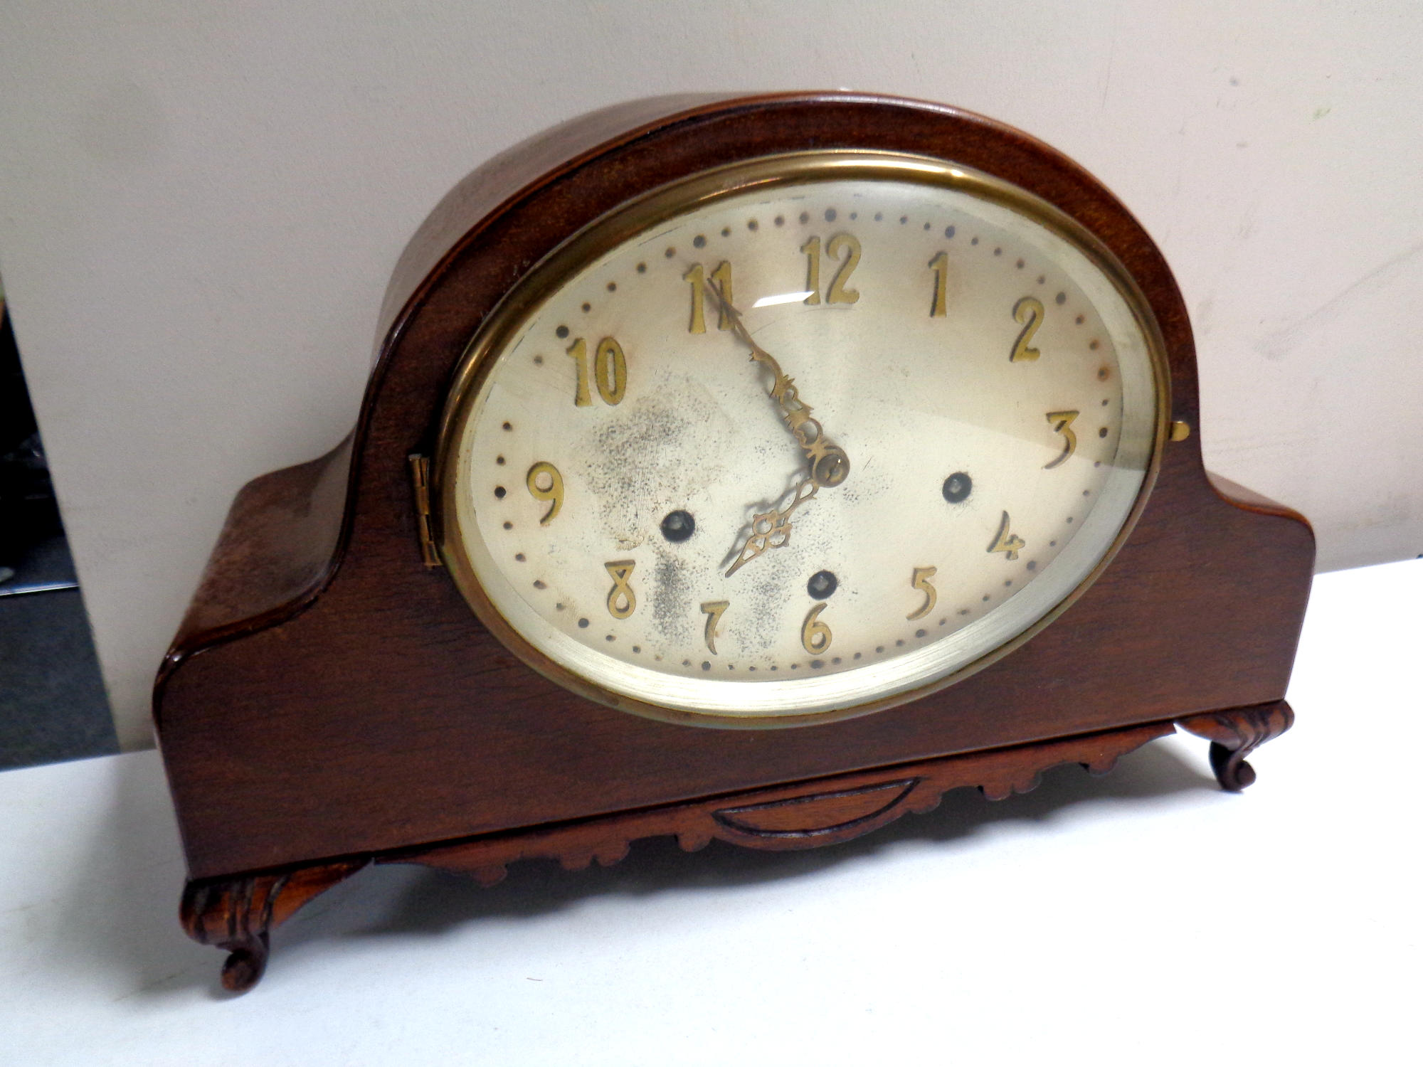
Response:
[[[120,737],[233,492],[353,423],[425,212],[660,92],[896,92],[1066,151],[1177,272],[1207,462],[1322,569],[1423,552],[1420,46],[1416,0],[7,0],[0,273]]]

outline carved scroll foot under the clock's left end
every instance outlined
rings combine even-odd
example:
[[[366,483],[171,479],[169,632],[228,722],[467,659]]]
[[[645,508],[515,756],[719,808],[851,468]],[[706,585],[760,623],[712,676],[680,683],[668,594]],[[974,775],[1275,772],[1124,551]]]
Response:
[[[209,878],[189,882],[182,925],[199,945],[225,949],[222,986],[246,993],[266,970],[272,929],[307,901],[366,866],[367,861],[323,864],[282,874]]]

